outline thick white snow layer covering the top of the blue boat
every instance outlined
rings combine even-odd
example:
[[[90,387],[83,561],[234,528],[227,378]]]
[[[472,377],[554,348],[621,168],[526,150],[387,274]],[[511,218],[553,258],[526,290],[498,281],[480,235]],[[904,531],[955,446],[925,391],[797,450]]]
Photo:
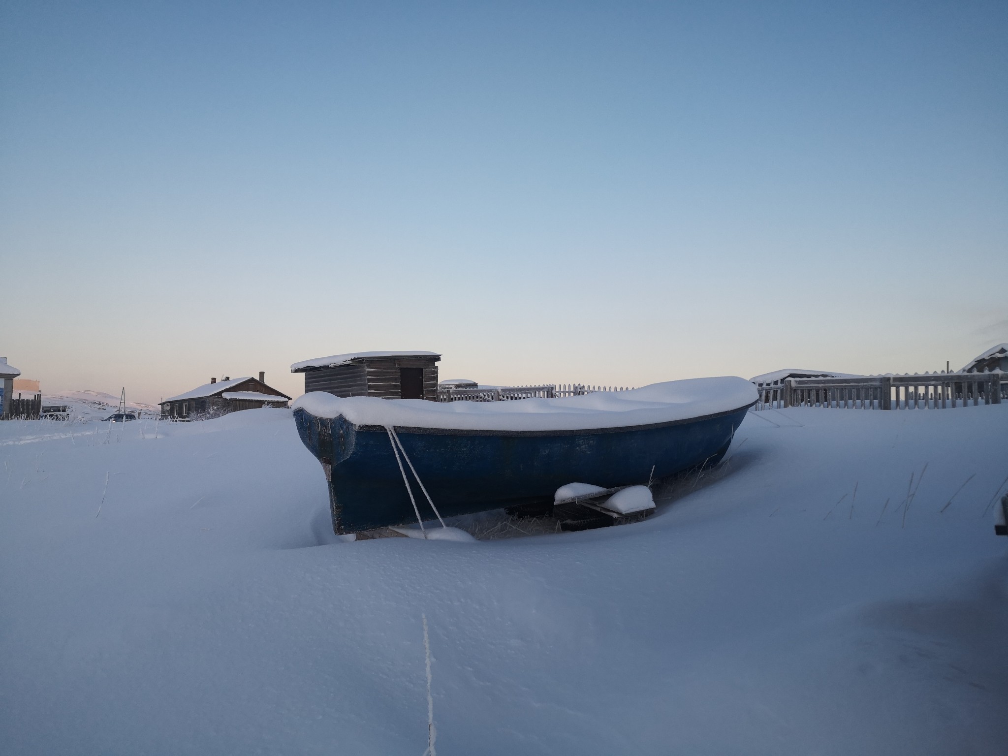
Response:
[[[748,406],[756,387],[744,378],[691,378],[631,391],[597,391],[559,399],[432,402],[304,394],[294,409],[317,417],[343,415],[355,425],[456,430],[590,430],[671,422]]]

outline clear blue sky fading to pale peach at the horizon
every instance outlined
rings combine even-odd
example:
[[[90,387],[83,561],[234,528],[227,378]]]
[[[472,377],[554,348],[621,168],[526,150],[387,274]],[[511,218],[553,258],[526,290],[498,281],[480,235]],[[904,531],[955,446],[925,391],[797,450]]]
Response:
[[[0,5],[0,354],[619,385],[1008,341],[1004,3]]]

